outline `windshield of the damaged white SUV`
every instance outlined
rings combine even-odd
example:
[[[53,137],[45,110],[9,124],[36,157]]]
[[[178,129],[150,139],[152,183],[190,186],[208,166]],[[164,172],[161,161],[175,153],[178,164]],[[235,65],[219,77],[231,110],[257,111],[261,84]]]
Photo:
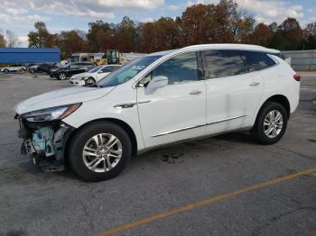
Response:
[[[97,85],[101,87],[121,85],[130,80],[132,77],[135,77],[135,75],[160,57],[161,56],[145,56],[143,58],[134,59],[128,64],[125,64],[122,68],[119,68],[115,72],[109,74],[107,77],[102,78]]]

